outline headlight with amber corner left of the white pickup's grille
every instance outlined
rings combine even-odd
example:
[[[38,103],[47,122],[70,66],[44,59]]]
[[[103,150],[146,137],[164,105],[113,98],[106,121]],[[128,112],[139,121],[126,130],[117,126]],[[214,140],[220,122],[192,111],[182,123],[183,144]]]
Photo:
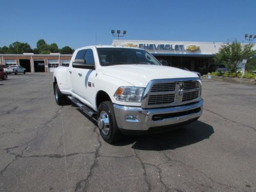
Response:
[[[121,87],[118,88],[114,97],[118,101],[141,102],[144,88]]]

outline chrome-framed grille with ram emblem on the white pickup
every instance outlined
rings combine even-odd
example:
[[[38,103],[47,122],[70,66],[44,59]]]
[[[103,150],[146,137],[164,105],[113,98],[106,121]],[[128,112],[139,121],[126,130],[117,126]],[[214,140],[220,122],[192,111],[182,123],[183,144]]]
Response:
[[[186,104],[200,97],[201,85],[194,79],[155,80],[149,87],[143,108],[159,108]]]

